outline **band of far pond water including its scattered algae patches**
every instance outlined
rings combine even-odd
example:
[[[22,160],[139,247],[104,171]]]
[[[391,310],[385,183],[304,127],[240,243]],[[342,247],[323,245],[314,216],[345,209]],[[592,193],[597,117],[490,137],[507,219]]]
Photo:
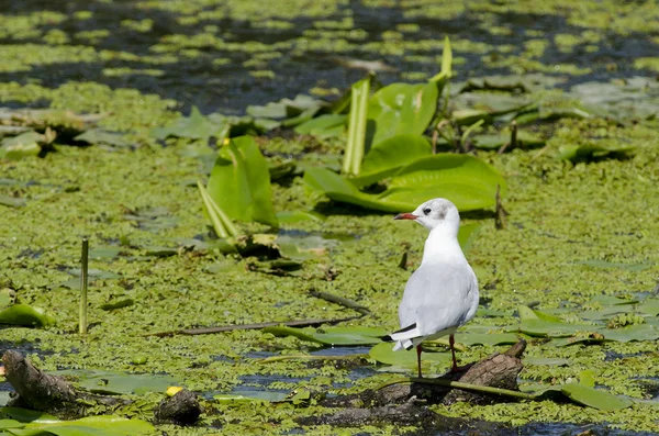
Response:
[[[0,82],[96,81],[174,99],[185,112],[198,105],[242,114],[313,88],[336,97],[365,68],[383,83],[423,80],[438,71],[445,35],[459,80],[544,72],[561,87],[647,75],[659,48],[644,33],[641,8],[625,7],[626,21],[610,25],[621,11],[608,2],[590,10],[570,2],[259,3],[2,0],[0,53],[12,62],[0,68]]]

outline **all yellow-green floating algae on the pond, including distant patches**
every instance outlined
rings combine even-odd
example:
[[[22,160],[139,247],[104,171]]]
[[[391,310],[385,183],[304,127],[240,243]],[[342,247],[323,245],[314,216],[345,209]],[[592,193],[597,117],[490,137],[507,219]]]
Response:
[[[206,7],[193,2],[139,2],[138,8],[149,10],[170,9],[176,13],[193,16],[179,18],[179,23],[198,25],[202,20],[231,18],[235,20],[256,20],[255,26],[290,30],[290,16],[281,16],[286,8],[258,8],[236,1],[232,8],[206,2]],[[458,18],[465,13],[465,7],[457,2],[439,4],[434,1],[403,2],[405,18],[439,16]],[[381,42],[371,42],[369,32],[361,29],[348,29],[344,22],[351,18],[340,18],[333,22],[330,16],[338,7],[320,4],[310,8],[315,30],[304,31],[302,37],[276,44],[235,42],[231,35],[220,34],[217,29],[200,26],[200,36],[191,37],[185,33],[176,37],[163,37],[159,44],[152,46],[155,56],[137,56],[126,52],[83,49],[81,45],[60,47],[62,35],[52,33],[43,44],[15,45],[2,48],[8,71],[30,71],[40,66],[55,66],[60,62],[90,64],[101,60],[139,60],[136,70],[159,70],[163,65],[179,59],[203,57],[204,49],[222,51],[223,56],[213,59],[215,65],[233,63],[234,54],[247,54],[257,59],[253,74],[267,80],[277,77],[276,69],[266,64],[279,58],[277,54],[294,53],[308,56],[309,53],[354,52],[367,55],[407,56],[418,65],[429,64],[426,56],[440,49],[440,40],[416,38],[412,26],[399,25],[394,35],[383,46]],[[391,7],[391,2],[372,1],[366,4]],[[323,9],[324,8],[324,9]],[[513,3],[472,3],[470,8],[481,13],[492,23],[494,34],[505,34],[505,29],[496,26],[494,13],[537,13],[567,16],[570,24],[583,31],[557,36],[554,43],[560,51],[574,51],[574,41],[601,44],[600,29],[625,35],[632,29],[636,32],[652,32],[648,19],[656,15],[648,5],[625,4],[603,1],[573,8],[573,1],[545,2],[530,4]],[[617,9],[622,8],[622,9]],[[257,10],[255,10],[257,9]],[[619,11],[619,14],[616,12]],[[76,12],[76,20],[89,20],[92,14]],[[288,12],[287,12],[288,14]],[[489,15],[489,18],[488,18]],[[66,15],[54,12],[32,13],[30,15],[3,16],[1,31],[12,40],[41,37],[51,25],[62,23]],[[8,27],[10,23],[15,27]],[[124,25],[124,24],[122,24]],[[142,32],[147,27],[143,22],[125,24],[132,31]],[[144,27],[142,27],[144,26]],[[423,26],[422,26],[423,27]],[[588,33],[590,32],[590,33]],[[407,34],[410,33],[410,35]],[[587,34],[588,33],[588,34]],[[89,38],[102,33],[78,34]],[[527,32],[528,38],[538,38],[544,33]],[[570,36],[568,36],[570,35]],[[597,36],[600,35],[600,36]],[[228,36],[228,37],[227,37]],[[322,36],[322,38],[320,37]],[[317,38],[317,40],[316,40]],[[410,38],[410,41],[407,40]],[[85,43],[99,40],[89,38]],[[367,44],[361,42],[369,40]],[[74,40],[76,44],[82,44]],[[655,42],[656,43],[656,42]],[[496,52],[503,54],[503,60],[493,59],[491,65],[514,71],[537,70],[550,74],[584,71],[583,65],[561,62],[546,64],[540,59],[547,49],[544,43],[524,44],[522,48],[493,46],[482,42],[454,40],[454,51],[463,54],[488,55],[490,59]],[[27,56],[21,57],[23,47]],[[568,48],[570,47],[570,48]],[[592,48],[591,48],[592,49]],[[187,51],[187,52],[185,52]],[[494,51],[494,52],[493,52]],[[41,52],[43,54],[38,54]],[[37,54],[35,54],[37,53]],[[158,55],[164,53],[165,55]],[[510,55],[510,57],[505,57]],[[146,64],[146,65],[145,65]],[[562,65],[561,65],[562,64]],[[634,63],[638,69],[656,70],[652,57],[639,58]],[[123,68],[123,67],[118,67]],[[404,71],[407,77],[421,77],[424,68]],[[265,72],[260,72],[265,71]],[[45,88],[40,85],[0,83],[0,100],[11,102],[47,101],[53,108],[71,109],[78,112],[104,112],[108,116],[101,125],[124,132],[137,132],[136,144],[155,147],[147,132],[155,126],[165,125],[178,114],[170,112],[175,102],[156,96],[145,96],[135,90],[112,89],[98,83],[68,83],[59,88]],[[489,308],[511,312],[520,303],[540,301],[543,310],[558,309],[566,303],[577,311],[580,304],[589,303],[592,295],[615,294],[619,292],[645,292],[656,284],[659,259],[657,242],[656,210],[648,206],[654,195],[654,187],[659,181],[657,168],[656,121],[644,121],[634,125],[621,126],[602,119],[562,120],[551,127],[554,134],[547,145],[547,153],[536,157],[535,153],[524,150],[496,156],[491,153],[479,155],[504,171],[511,186],[505,206],[511,212],[509,230],[496,231],[492,223],[484,222],[483,228],[474,241],[469,259],[477,270],[481,287],[487,286],[483,297]],[[142,132],[142,134],[139,133]],[[554,159],[565,144],[583,143],[589,138],[610,137],[638,148],[627,160],[602,160],[597,163],[561,163]],[[0,238],[2,247],[0,282],[18,290],[22,301],[44,308],[54,308],[58,313],[58,325],[47,331],[26,331],[9,328],[2,331],[3,338],[38,343],[42,350],[53,355],[32,358],[47,369],[68,368],[110,368],[123,371],[166,371],[185,379],[185,384],[200,391],[231,391],[244,384],[241,378],[252,374],[266,374],[273,379],[297,376],[312,379],[319,374],[350,381],[347,370],[337,370],[333,365],[310,368],[300,362],[286,362],[272,366],[258,366],[249,353],[268,350],[281,354],[314,351],[316,346],[294,338],[276,338],[259,332],[235,332],[216,336],[154,338],[142,337],[143,333],[190,327],[194,325],[216,325],[231,323],[250,323],[277,318],[297,317],[340,317],[345,311],[325,302],[309,298],[305,290],[316,289],[335,292],[359,300],[371,308],[376,315],[362,320],[360,325],[396,326],[395,306],[409,272],[399,270],[403,248],[401,243],[410,243],[410,261],[417,264],[421,258],[424,231],[413,226],[400,226],[390,222],[390,216],[354,211],[321,203],[327,220],[306,221],[288,225],[289,230],[322,232],[345,232],[359,235],[357,242],[340,244],[333,248],[327,259],[312,260],[304,265],[302,277],[280,278],[260,272],[246,273],[248,261],[234,257],[224,257],[212,251],[180,251],[167,258],[143,258],[139,246],[171,246],[174,238],[193,237],[206,233],[206,223],[194,189],[182,183],[196,179],[203,170],[197,159],[182,155],[189,143],[185,139],[169,142],[167,148],[141,148],[136,152],[107,152],[97,148],[81,150],[58,146],[58,152],[44,159],[25,160],[18,164],[0,164],[3,177],[24,182],[19,187],[0,187],[0,194],[26,200],[26,206],[16,210],[0,205],[3,231],[8,234]],[[338,153],[342,144],[305,144],[300,139],[264,141],[265,150],[299,156],[305,163],[317,164],[323,153]],[[314,150],[314,153],[309,153]],[[277,159],[271,158],[273,161]],[[93,176],[90,176],[93,169]],[[25,183],[37,181],[41,185]],[[79,191],[67,192],[67,187],[77,186]],[[315,199],[309,198],[299,178],[290,187],[275,185],[273,202],[276,211],[309,210]],[[134,221],[125,220],[124,208],[167,206],[169,214],[176,217],[175,226],[146,230]],[[46,217],[46,219],[44,219]],[[480,222],[473,215],[463,216],[466,223]],[[76,292],[57,287],[57,283],[70,279],[60,271],[58,265],[75,267],[79,253],[79,238],[92,235],[92,247],[116,244],[118,239],[130,241],[122,247],[122,254],[112,260],[93,260],[94,268],[105,269],[121,275],[119,280],[97,280],[90,295],[91,321],[96,325],[90,336],[80,338],[76,331]],[[44,250],[40,258],[21,256],[29,249]],[[591,259],[604,259],[608,262],[649,265],[639,271],[621,268],[595,269],[580,266],[579,262]],[[210,272],[212,267],[222,262],[228,265],[222,272]],[[334,268],[338,276],[325,281],[323,269]],[[54,287],[51,289],[51,287]],[[130,298],[134,305],[104,311],[102,306],[110,301]],[[392,309],[393,308],[393,309]],[[621,320],[622,321],[622,320]],[[515,325],[512,315],[503,317],[478,317],[476,324],[490,327]],[[470,346],[460,353],[462,361],[484,358],[504,347]],[[148,359],[144,365],[135,365],[135,353],[148,349]],[[569,367],[547,367],[528,365],[522,377],[526,380],[544,382],[569,382],[576,380],[583,369],[592,369],[595,381],[613,393],[630,395],[636,399],[648,398],[643,385],[635,381],[637,377],[656,378],[656,343],[606,343],[602,345],[573,345],[552,347],[534,342],[527,355],[537,358],[563,358],[573,365]],[[610,357],[613,356],[613,357]],[[219,358],[221,357],[221,358]],[[389,376],[380,373],[361,379],[350,388],[330,389],[330,392],[348,393],[375,387]],[[315,380],[311,383],[327,390]],[[269,389],[292,389],[297,382],[272,382]],[[222,425],[224,434],[245,434],[247,431],[284,432],[295,427],[291,415],[311,415],[325,413],[320,407],[293,409],[290,405],[277,407],[230,406],[209,403],[217,409],[220,416],[206,416],[206,425]],[[532,421],[545,422],[603,422],[614,427],[652,429],[652,416],[656,410],[648,404],[636,404],[629,411],[599,414],[570,404],[543,403],[498,404],[492,406],[471,406],[455,404],[435,406],[442,413],[454,416],[485,417],[493,421],[521,425]],[[541,413],[539,413],[540,411]],[[280,420],[276,428],[269,420]],[[159,429],[172,434],[183,434],[174,426],[160,426]],[[372,434],[389,434],[396,429],[365,428]],[[190,429],[186,433],[204,433],[205,429]],[[312,434],[336,434],[336,428],[317,427]]]

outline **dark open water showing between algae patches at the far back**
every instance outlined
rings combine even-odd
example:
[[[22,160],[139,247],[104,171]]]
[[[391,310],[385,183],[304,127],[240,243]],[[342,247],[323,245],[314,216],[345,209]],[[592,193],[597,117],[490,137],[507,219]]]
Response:
[[[632,60],[637,57],[656,56],[659,52],[657,44],[647,34],[636,33],[630,29],[624,37],[612,31],[593,30],[599,34],[599,41],[589,43],[590,49],[584,48],[585,44],[578,44],[566,53],[557,46],[555,36],[557,34],[578,36],[584,32],[583,27],[570,24],[566,16],[518,13],[512,8],[510,12],[495,14],[483,14],[467,8],[457,16],[447,14],[447,19],[438,19],[409,16],[409,14],[406,16],[407,10],[414,5],[404,5],[404,2],[403,5],[396,2],[389,3],[395,4],[390,7],[369,7],[360,1],[349,1],[336,5],[319,20],[299,15],[303,11],[294,8],[294,2],[284,2],[280,16],[275,19],[278,22],[289,23],[289,29],[279,29],[261,25],[263,20],[261,24],[258,24],[241,19],[242,15],[235,18],[231,2],[206,3],[210,5],[202,4],[197,12],[187,11],[186,14],[186,11],[178,12],[175,8],[174,11],[165,10],[160,7],[147,5],[142,1],[1,0],[0,13],[4,15],[54,11],[67,16],[58,23],[46,22],[38,25],[41,35],[22,36],[20,40],[11,35],[0,38],[0,46],[46,44],[43,34],[52,30],[60,30],[68,36],[67,45],[92,47],[97,53],[101,51],[130,53],[138,57],[126,60],[99,56],[91,62],[58,59],[47,65],[33,65],[29,71],[0,69],[0,81],[21,83],[36,81],[49,88],[56,88],[67,81],[96,81],[113,88],[136,88],[146,93],[175,99],[186,112],[191,105],[198,105],[205,113],[242,114],[248,104],[263,104],[284,97],[292,98],[297,93],[306,93],[314,87],[336,88],[339,91],[345,89],[365,74],[354,65],[348,66],[347,58],[380,60],[392,67],[393,70],[378,74],[379,79],[384,83],[406,80],[405,74],[411,71],[426,74],[429,77],[437,72],[438,65],[436,60],[428,62],[428,59],[440,56],[440,41],[445,35],[450,36],[455,42],[469,41],[485,44],[485,48],[474,51],[465,48],[463,44],[462,46],[458,44],[454,48],[454,56],[462,58],[462,64],[455,67],[458,70],[458,80],[470,76],[510,74],[509,66],[488,67],[483,64],[483,57],[496,58],[507,55],[524,57],[526,56],[523,54],[524,44],[529,40],[543,40],[548,43],[543,54],[534,60],[547,66],[570,64],[592,69],[587,75],[562,75],[563,87],[587,80],[610,80],[615,77],[643,74],[633,69]],[[81,20],[79,19],[81,11],[91,11],[92,15]],[[203,18],[206,16],[203,13],[217,15],[217,11],[223,12],[223,18]],[[349,29],[345,29],[345,24],[343,27],[336,24],[339,29],[333,30],[331,24],[326,24],[326,22],[340,23],[346,16],[353,20],[353,26]],[[181,18],[191,18],[197,22],[186,24],[183,21],[182,24]],[[485,19],[487,22],[483,21]],[[153,20],[153,25],[146,31],[136,31],[122,25],[124,20]],[[321,20],[322,23],[319,23]],[[404,26],[414,24],[418,25],[417,31],[406,33]],[[208,27],[209,25],[213,27]],[[396,27],[400,25],[402,27]],[[499,31],[493,32],[492,27]],[[387,36],[387,32],[396,29],[400,29],[399,35],[404,35],[404,42],[400,41],[400,36],[398,40],[395,35]],[[80,36],[80,32],[98,30],[108,30],[109,34],[96,41]],[[320,30],[325,31],[323,38],[326,40],[326,43],[321,45],[317,44],[321,37]],[[358,32],[350,33],[354,30]],[[212,41],[200,41],[198,37],[202,34],[206,40],[210,35]],[[193,49],[194,54],[187,55],[181,49],[177,49],[176,44],[170,44],[170,35],[179,35],[183,42],[176,43],[178,47]],[[217,41],[221,43],[217,44]],[[420,41],[436,43],[429,48],[414,48],[413,43]],[[271,46],[272,52],[279,52],[278,57],[270,59],[266,57],[258,68],[249,66],[255,55],[247,47],[255,43],[265,45],[265,48],[257,51],[258,53],[268,53],[268,46]],[[499,53],[498,47],[504,45],[507,46],[505,53]],[[593,49],[594,45],[596,49]],[[241,46],[244,46],[245,51],[242,51]],[[309,48],[304,48],[305,46]],[[373,48],[375,46],[377,48]],[[163,47],[169,47],[165,48],[168,49],[166,54],[174,56],[176,58],[174,62],[158,64],[153,59],[142,59],[144,56],[159,55]],[[216,59],[225,59],[225,64],[214,63]],[[243,63],[248,63],[248,66]],[[160,70],[160,76],[153,77],[141,72],[120,76],[108,74],[108,69],[118,68],[157,69]],[[513,69],[517,67],[513,66]],[[252,74],[255,70],[271,71],[275,76],[254,77]],[[561,75],[559,69],[556,72]],[[647,75],[647,71],[645,74]]]

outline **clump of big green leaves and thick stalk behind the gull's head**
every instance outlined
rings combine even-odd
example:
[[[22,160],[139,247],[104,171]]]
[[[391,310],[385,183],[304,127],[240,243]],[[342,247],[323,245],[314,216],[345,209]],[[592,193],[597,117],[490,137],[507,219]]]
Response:
[[[306,187],[335,201],[384,212],[411,210],[433,197],[446,197],[465,211],[494,205],[498,187],[505,191],[505,180],[494,168],[470,155],[434,154],[423,136],[453,75],[451,59],[447,38],[442,70],[425,83],[392,83],[370,98],[371,76],[355,83],[344,176],[306,168]],[[362,191],[384,180],[387,189],[380,193]]]

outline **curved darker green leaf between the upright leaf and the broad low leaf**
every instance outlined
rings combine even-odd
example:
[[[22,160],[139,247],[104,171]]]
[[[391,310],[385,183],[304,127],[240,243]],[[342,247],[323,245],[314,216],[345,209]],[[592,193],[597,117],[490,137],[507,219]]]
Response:
[[[429,156],[431,144],[421,135],[402,134],[375,144],[361,164],[359,177],[350,181],[367,186],[394,175],[402,166],[417,158]]]

